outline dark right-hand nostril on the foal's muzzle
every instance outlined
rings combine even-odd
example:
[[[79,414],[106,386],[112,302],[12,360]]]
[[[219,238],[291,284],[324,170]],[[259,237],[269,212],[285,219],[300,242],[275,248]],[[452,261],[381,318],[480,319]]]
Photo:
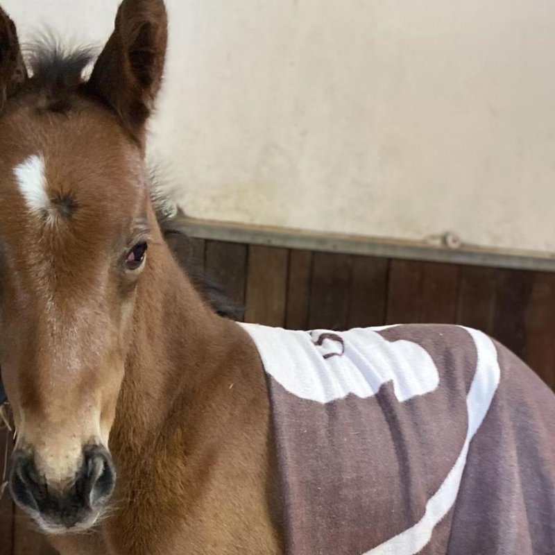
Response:
[[[89,507],[109,497],[114,490],[116,475],[107,450],[95,445],[85,450],[80,495]]]

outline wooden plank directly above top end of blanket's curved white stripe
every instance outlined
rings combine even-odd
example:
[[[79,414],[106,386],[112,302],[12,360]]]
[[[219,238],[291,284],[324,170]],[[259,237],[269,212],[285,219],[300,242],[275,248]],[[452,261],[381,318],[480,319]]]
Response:
[[[497,270],[481,266],[461,266],[456,323],[486,334],[493,331]]]

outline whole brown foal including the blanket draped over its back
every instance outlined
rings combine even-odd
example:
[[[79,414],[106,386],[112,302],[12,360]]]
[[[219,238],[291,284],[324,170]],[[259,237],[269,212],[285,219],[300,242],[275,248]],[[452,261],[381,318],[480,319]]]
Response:
[[[502,345],[237,325],[194,289],[143,163],[166,42],[124,0],[87,82],[29,77],[0,12],[15,502],[62,555],[555,553],[554,396]]]

